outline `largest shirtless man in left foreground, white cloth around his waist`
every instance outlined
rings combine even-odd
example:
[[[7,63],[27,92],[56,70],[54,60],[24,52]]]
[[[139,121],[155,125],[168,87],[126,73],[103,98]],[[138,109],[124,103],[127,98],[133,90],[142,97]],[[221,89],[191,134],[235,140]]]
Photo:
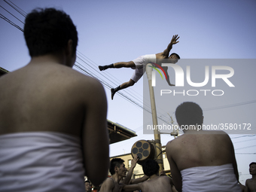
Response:
[[[84,192],[84,174],[95,185],[108,174],[105,91],[72,69],[69,15],[32,11],[24,37],[31,61],[0,78],[0,191]]]

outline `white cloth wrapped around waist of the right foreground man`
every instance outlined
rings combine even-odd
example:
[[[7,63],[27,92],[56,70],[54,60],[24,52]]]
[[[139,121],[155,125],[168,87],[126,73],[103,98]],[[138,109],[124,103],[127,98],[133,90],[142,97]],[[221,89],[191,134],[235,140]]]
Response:
[[[232,164],[197,166],[181,170],[182,191],[241,192]]]

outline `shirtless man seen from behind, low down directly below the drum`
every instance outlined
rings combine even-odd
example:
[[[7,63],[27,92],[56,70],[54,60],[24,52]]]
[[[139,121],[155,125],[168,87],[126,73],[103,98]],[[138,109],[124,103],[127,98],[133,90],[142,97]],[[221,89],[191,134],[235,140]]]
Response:
[[[149,177],[148,181],[139,184],[128,184],[123,187],[123,191],[142,190],[145,192],[172,192],[172,180],[168,176],[158,176],[159,165],[155,160],[146,160],[142,164],[145,175]]]

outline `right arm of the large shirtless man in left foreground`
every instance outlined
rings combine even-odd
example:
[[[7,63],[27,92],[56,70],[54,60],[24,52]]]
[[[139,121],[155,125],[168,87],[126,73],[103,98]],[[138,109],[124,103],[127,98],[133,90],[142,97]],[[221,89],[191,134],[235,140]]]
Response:
[[[95,184],[101,184],[108,175],[107,101],[99,81],[89,78],[84,87],[84,166],[86,175]]]

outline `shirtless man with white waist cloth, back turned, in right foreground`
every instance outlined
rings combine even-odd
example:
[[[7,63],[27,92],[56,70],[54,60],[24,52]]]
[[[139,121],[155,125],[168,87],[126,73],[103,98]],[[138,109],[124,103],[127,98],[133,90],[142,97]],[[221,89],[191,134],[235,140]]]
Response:
[[[201,130],[203,111],[184,102],[175,116],[184,135],[166,145],[176,189],[181,191],[241,191],[233,144],[227,133]]]

